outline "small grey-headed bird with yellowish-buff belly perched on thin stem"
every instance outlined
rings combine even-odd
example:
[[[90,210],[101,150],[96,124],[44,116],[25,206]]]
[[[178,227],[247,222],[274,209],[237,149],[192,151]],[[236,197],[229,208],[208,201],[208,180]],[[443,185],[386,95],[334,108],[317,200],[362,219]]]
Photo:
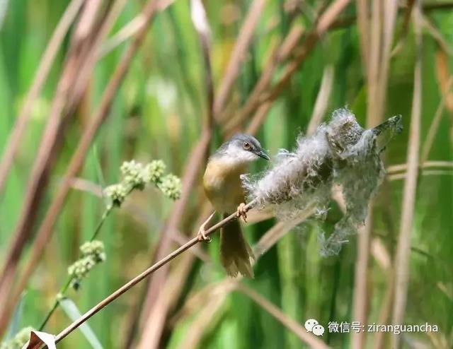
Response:
[[[245,194],[242,188],[241,175],[246,173],[248,165],[259,159],[270,160],[261,148],[260,142],[248,134],[236,134],[210,157],[207,162],[203,187],[207,199],[223,218],[236,211],[238,217],[246,221],[244,210]],[[210,241],[205,235],[205,227],[214,213],[200,226],[198,239]],[[237,220],[231,221],[220,230],[220,261],[229,276],[238,273],[253,278],[251,259],[255,259],[251,247],[244,239],[241,226]]]

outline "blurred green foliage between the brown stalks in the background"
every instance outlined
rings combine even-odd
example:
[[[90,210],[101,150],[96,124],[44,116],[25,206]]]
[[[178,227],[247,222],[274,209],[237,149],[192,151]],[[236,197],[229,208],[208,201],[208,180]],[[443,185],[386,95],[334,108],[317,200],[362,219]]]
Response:
[[[102,4],[96,16],[103,18],[113,6],[113,1],[100,2]],[[212,30],[210,57],[216,91],[252,2],[213,0],[204,3]],[[374,2],[381,1],[371,1],[368,4],[370,11],[376,8]],[[391,40],[388,85],[385,88],[386,100],[380,117],[386,119],[401,114],[404,131],[389,143],[384,153],[384,162],[389,168],[406,163],[417,60],[413,13],[408,10],[411,8],[415,11],[412,6],[416,5],[414,1],[398,2],[394,38]],[[103,44],[134,19],[142,11],[144,3],[126,1]],[[357,3],[352,1],[345,7],[333,26],[309,51],[302,66],[292,74],[289,84],[270,107],[256,134],[270,154],[275,155],[280,148],[292,148],[299,133],[306,131],[326,69],[333,69],[333,76],[331,93],[321,100],[323,117],[328,119],[333,110],[348,106],[362,125],[367,124],[367,113],[370,114],[367,108],[374,96],[368,93],[369,79],[362,64],[360,30],[356,20]],[[418,4],[417,1],[415,3]],[[0,18],[4,17],[0,27],[2,152],[25,95],[33,83],[40,58],[68,4],[69,1],[63,0],[0,1]],[[286,37],[294,25],[303,27],[305,33],[309,32],[316,25],[317,13],[323,13],[329,4],[331,1],[265,1],[246,56],[239,66],[239,76],[229,95],[229,108],[226,109],[231,114],[248,100],[258,78],[265,72],[266,62],[277,42]],[[428,322],[437,324],[439,331],[406,333],[403,336],[403,348],[453,348],[453,95],[446,83],[452,63],[453,11],[449,5],[453,8],[453,3],[449,1],[442,4],[422,1],[421,4],[423,51],[420,57],[422,75],[418,148],[421,153],[436,111],[439,105],[445,105],[428,159],[424,159],[441,161],[442,165],[428,164],[425,170],[418,171],[408,257],[406,312],[403,317],[405,324]],[[384,5],[381,3],[379,6],[384,11]],[[372,23],[372,17],[369,23]],[[380,18],[384,32],[384,12]],[[69,52],[74,25],[59,47],[49,76],[33,104],[4,191],[0,193],[2,260],[10,248],[23,207],[25,189]],[[52,165],[50,182],[33,227],[30,228],[33,232],[44,217],[76,144],[86,130],[93,110],[99,105],[105,85],[130,40],[127,38],[97,61],[81,101],[64,128],[62,147]],[[306,36],[299,40],[297,47],[304,47],[304,40]],[[369,53],[372,51],[371,48]],[[297,54],[297,50],[294,52]],[[383,59],[382,56],[379,59]],[[282,76],[285,62],[275,70],[274,82]],[[444,91],[446,97],[442,99]],[[162,159],[168,170],[183,177],[191,149],[200,139],[206,119],[206,96],[205,65],[200,40],[190,18],[190,2],[175,1],[156,15],[130,64],[108,119],[88,151],[79,174],[81,185],[71,190],[52,239],[28,280],[21,303],[16,307],[13,331],[24,326],[39,326],[64,283],[67,266],[77,258],[79,245],[91,237],[105,203],[88,190],[90,186],[105,187],[117,182],[120,179],[120,165],[130,159],[142,162]],[[251,115],[248,115],[243,126],[250,119]],[[377,119],[368,120],[374,123]],[[222,127],[222,123],[214,125],[211,151],[222,143]],[[262,167],[256,165],[252,170],[257,172]],[[199,182],[202,168],[199,172],[195,185],[184,188],[190,191],[190,197],[179,224],[179,237],[194,236],[197,223],[200,222],[198,213],[203,210],[205,196]],[[391,171],[389,174],[374,203],[369,264],[366,268],[365,303],[369,324],[391,324],[392,318],[391,306],[387,303],[392,303],[388,293],[391,295],[393,292],[391,280],[401,226],[404,176],[391,177],[395,174]],[[81,313],[151,264],[174,205],[159,191],[147,189],[134,192],[128,197],[125,206],[114,211],[100,235],[105,243],[107,261],[93,269],[78,292],[67,292]],[[294,228],[260,257],[255,267],[256,278],[241,281],[248,289],[275,304],[300,329],[309,318],[317,319],[324,326],[329,321],[355,321],[355,267],[359,263],[357,237],[352,236],[338,256],[323,258],[319,254],[319,232],[329,231],[340,215],[341,211],[333,201],[326,222],[307,220]],[[246,237],[251,242],[257,242],[274,224],[273,219],[249,224]],[[32,233],[23,250],[22,260],[28,258],[33,237]],[[171,247],[176,245],[173,240]],[[154,329],[159,331],[159,335],[154,337],[157,339],[146,348],[308,347],[297,336],[297,331],[284,326],[282,321],[270,314],[263,304],[253,301],[246,292],[229,291],[226,286],[222,288],[222,280],[226,276],[219,264],[217,237],[214,237],[212,244],[203,245],[201,249],[204,260],[192,252],[186,252],[190,256],[180,256],[173,261],[164,283],[159,285],[172,297],[167,299],[168,304],[166,300],[151,304],[156,307],[153,311],[161,311],[157,309],[159,305],[166,307],[167,311],[162,328]],[[172,275],[175,277],[171,278]],[[206,287],[209,288],[206,290]],[[145,283],[137,285],[88,321],[103,348],[139,348],[141,338],[151,331],[150,327],[145,326],[148,317],[144,314],[143,305],[148,295]],[[70,322],[62,309],[57,309],[45,330],[58,333]],[[326,331],[321,341],[332,348],[391,348],[389,334],[384,336],[380,346],[377,346],[375,336],[376,333],[365,333],[365,342],[357,345],[352,333]],[[75,331],[60,346],[89,348],[90,344],[79,331]]]

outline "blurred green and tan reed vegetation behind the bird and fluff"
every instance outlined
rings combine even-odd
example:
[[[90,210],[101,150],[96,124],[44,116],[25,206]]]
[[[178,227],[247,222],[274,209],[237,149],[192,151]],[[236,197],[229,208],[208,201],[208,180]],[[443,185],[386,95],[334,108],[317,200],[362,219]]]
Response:
[[[292,229],[251,215],[251,242],[290,230],[260,256],[255,279],[226,278],[214,236],[88,325],[103,348],[453,348],[452,7],[1,0],[4,340],[52,307],[123,161],[164,160],[183,195],[134,192],[110,215],[99,235],[107,261],[67,292],[81,313],[195,235],[210,211],[206,155],[224,138],[252,132],[274,155],[347,105],[368,126],[401,114],[404,131],[384,153],[388,175],[366,227],[338,256],[321,257],[318,242],[341,215],[336,201],[325,223]],[[315,338],[309,318],[439,331]],[[45,331],[70,323],[59,307]],[[74,331],[59,347],[96,347],[93,333]]]

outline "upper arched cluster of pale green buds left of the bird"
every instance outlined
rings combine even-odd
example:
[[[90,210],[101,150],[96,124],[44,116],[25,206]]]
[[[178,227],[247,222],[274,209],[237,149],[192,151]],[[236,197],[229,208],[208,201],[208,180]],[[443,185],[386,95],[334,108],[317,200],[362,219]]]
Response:
[[[108,208],[120,207],[131,191],[143,190],[147,184],[154,184],[170,199],[179,199],[182,189],[181,181],[175,175],[164,176],[165,169],[166,165],[162,160],[153,160],[147,165],[135,160],[123,162],[120,167],[122,182],[104,189],[104,194],[108,199]]]

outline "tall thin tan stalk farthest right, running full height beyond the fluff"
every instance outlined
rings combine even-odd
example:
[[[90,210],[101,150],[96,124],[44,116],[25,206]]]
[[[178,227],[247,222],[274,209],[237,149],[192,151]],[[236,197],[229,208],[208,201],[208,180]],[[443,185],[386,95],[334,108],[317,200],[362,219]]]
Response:
[[[418,177],[418,152],[420,148],[420,117],[422,97],[422,35],[420,0],[413,8],[413,24],[415,32],[415,71],[413,80],[413,100],[411,126],[409,129],[407,174],[404,182],[403,200],[401,202],[401,221],[398,245],[395,256],[394,307],[392,324],[403,324],[406,310],[406,299],[409,280],[409,256],[411,251],[411,232],[415,210],[415,194]],[[393,348],[401,347],[401,336],[393,336]]]

